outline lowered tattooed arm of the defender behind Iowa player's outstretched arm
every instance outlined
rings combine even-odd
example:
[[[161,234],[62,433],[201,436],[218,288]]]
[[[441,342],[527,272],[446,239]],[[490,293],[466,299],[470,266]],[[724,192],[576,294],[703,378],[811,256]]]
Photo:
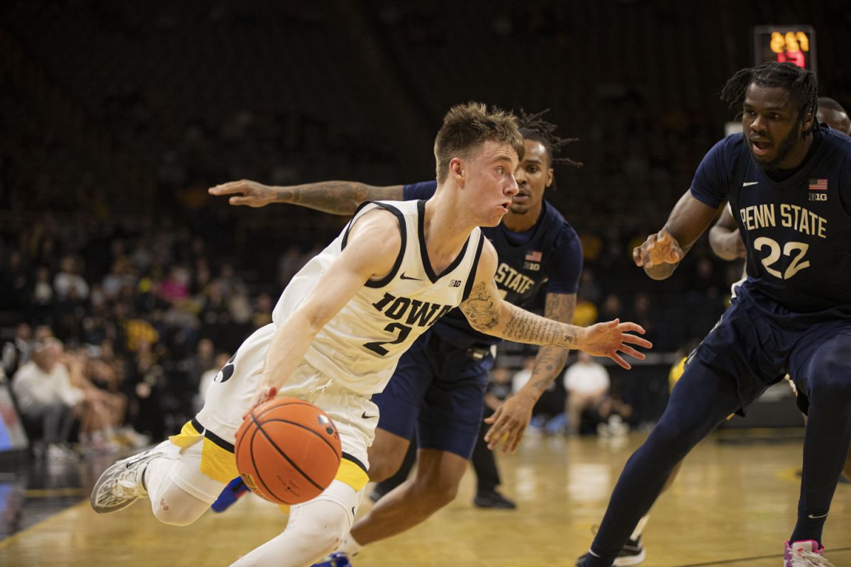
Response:
[[[550,320],[571,323],[576,309],[575,293],[547,293],[544,316]],[[500,439],[505,437],[502,453],[514,452],[523,439],[534,405],[546,388],[564,367],[568,360],[568,350],[546,346],[538,349],[535,356],[532,377],[508,400],[494,411],[494,415],[484,420],[491,424],[484,439],[488,449],[493,449]]]

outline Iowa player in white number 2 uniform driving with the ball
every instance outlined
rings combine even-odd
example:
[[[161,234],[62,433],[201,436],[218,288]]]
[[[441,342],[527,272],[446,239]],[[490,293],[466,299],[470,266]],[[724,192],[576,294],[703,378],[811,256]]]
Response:
[[[500,299],[496,253],[480,225],[494,226],[517,194],[523,138],[513,116],[467,104],[437,133],[437,192],[429,201],[366,203],[346,230],[284,290],[273,322],[237,349],[179,435],[106,469],[91,496],[96,512],[140,497],[166,524],[190,524],[237,476],[233,443],[243,416],[277,394],[323,408],[343,461],[317,498],[290,509],[282,534],[237,560],[239,567],[301,567],[334,551],[367,484],[367,448],[378,422],[369,400],[398,357],[428,326],[460,305],[477,330],[509,340],[643,359],[634,323],[586,328],[532,315]]]

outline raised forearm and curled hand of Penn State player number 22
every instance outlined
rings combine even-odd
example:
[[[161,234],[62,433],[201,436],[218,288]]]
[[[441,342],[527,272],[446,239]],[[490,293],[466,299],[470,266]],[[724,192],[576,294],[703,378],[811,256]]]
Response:
[[[654,280],[665,280],[674,273],[717,214],[717,209],[704,205],[691,195],[690,190],[686,191],[662,230],[649,235],[640,247],[632,251],[633,261],[637,266],[643,266],[644,272]]]

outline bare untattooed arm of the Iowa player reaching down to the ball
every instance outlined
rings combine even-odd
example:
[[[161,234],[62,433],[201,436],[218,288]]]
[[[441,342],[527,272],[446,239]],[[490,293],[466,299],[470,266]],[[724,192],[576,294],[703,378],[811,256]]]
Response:
[[[277,393],[299,366],[317,333],[343,309],[370,278],[388,274],[402,247],[397,218],[370,211],[358,218],[346,248],[328,267],[300,307],[278,326],[272,337],[253,409]]]

